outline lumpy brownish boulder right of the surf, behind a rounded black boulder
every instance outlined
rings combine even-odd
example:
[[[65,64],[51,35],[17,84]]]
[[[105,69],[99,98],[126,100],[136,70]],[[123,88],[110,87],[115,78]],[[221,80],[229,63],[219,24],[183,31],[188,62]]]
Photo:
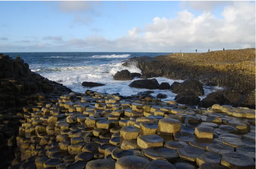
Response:
[[[190,91],[195,93],[197,96],[203,96],[204,90],[203,90],[203,84],[199,82],[199,80],[185,80],[184,82],[174,82],[171,85],[171,90],[176,93],[184,93],[186,91]]]

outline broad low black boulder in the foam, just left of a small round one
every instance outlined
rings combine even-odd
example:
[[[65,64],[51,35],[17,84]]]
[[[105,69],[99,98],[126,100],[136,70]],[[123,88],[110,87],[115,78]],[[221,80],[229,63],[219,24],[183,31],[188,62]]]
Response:
[[[135,87],[140,89],[159,89],[159,83],[155,78],[135,80],[130,83],[129,87]]]

